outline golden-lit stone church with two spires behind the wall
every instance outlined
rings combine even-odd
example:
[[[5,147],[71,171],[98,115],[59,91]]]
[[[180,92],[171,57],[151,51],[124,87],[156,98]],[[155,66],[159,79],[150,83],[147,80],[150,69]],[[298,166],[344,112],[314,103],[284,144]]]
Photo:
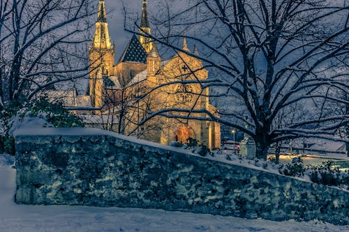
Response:
[[[116,59],[105,1],[98,4],[89,47],[89,102],[96,109],[92,114],[116,118],[107,129],[121,134],[166,145],[193,138],[210,148],[220,148],[220,125],[206,120],[218,110],[209,104],[209,89],[200,84],[208,78],[202,61],[184,52],[161,59],[155,42],[142,36],[151,35],[147,1],[142,1],[142,35],[133,35]],[[191,53],[185,38],[182,49]],[[196,46],[193,54],[199,54]]]

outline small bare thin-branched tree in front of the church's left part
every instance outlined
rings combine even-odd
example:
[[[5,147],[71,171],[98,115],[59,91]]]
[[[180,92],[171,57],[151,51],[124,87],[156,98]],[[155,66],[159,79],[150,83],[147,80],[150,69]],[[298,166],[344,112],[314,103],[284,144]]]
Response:
[[[145,76],[132,69],[124,69],[115,76],[104,76],[103,107],[99,110],[103,129],[138,138],[152,139],[151,134],[159,130],[159,123],[143,123],[154,99],[149,87],[144,84]],[[110,126],[110,123],[112,126]]]

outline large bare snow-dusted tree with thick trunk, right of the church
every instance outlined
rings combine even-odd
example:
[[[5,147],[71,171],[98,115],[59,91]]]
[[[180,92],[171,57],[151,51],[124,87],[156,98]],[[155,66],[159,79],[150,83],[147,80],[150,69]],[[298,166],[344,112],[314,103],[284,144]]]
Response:
[[[178,0],[161,1],[157,9],[156,36],[144,36],[204,61],[214,75],[200,84],[216,88],[210,96],[225,102],[221,115],[229,119],[208,111],[201,119],[249,134],[258,157],[266,158],[271,144],[286,139],[335,139],[336,129],[348,123],[348,111],[328,116],[313,104],[314,99],[349,104],[334,94],[349,88],[346,0]],[[184,37],[198,44],[200,55],[181,48],[177,41]],[[311,115],[273,127],[292,106],[295,114],[306,109]],[[188,110],[162,109],[152,115],[177,111]]]

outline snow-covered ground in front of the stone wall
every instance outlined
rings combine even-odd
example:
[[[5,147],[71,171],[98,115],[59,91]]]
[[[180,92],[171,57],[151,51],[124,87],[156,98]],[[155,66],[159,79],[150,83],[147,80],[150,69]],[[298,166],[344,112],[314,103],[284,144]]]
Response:
[[[13,201],[15,169],[13,159],[0,155],[0,231],[349,231],[349,226],[335,226],[311,221],[272,222],[201,215],[188,212],[138,208],[99,208],[87,206],[25,206]]]

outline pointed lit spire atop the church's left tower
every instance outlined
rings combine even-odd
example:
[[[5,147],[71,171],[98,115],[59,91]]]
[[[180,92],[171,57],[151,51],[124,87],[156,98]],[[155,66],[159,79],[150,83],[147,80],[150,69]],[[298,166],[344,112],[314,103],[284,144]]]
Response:
[[[99,0],[98,16],[96,22],[96,31],[94,33],[94,48],[112,49],[112,42],[110,40],[108,26],[107,26],[107,14],[105,11],[104,0]]]

